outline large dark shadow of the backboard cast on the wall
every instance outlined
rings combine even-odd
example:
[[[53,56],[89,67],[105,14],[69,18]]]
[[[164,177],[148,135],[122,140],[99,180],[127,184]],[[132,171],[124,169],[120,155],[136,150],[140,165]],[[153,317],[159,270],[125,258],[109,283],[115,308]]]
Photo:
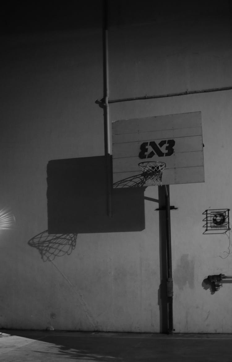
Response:
[[[112,190],[107,214],[105,156],[51,160],[47,165],[49,233],[141,231],[144,188]]]

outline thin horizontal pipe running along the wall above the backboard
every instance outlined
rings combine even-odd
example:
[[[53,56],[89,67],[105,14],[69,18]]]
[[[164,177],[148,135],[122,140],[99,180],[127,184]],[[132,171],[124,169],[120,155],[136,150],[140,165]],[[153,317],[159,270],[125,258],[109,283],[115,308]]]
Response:
[[[148,96],[148,95],[146,94],[145,96],[142,96],[142,97],[112,99],[112,100],[108,100],[108,103],[140,101],[140,100],[144,100],[144,99],[155,99],[155,98],[178,97],[178,96],[186,96],[186,95],[188,95],[188,94],[200,94],[200,93],[220,92],[220,91],[222,91],[222,90],[232,90],[232,86],[231,86],[231,87],[202,89],[202,90],[186,90],[185,92],[159,94],[159,95],[156,95],[156,96]]]

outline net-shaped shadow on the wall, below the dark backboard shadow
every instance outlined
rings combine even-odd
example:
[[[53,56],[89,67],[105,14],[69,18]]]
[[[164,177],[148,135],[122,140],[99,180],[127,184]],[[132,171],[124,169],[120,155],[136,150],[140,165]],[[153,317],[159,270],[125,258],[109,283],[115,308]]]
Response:
[[[57,256],[70,255],[76,246],[77,234],[48,234],[45,230],[32,237],[28,244],[38,249],[43,261],[52,261]]]

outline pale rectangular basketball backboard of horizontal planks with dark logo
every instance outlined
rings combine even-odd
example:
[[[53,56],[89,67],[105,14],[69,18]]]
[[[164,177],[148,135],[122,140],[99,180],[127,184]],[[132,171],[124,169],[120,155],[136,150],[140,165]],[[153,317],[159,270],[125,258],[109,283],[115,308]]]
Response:
[[[154,160],[166,163],[163,185],[205,181],[201,112],[115,121],[112,142],[114,187],[141,186],[138,164]]]

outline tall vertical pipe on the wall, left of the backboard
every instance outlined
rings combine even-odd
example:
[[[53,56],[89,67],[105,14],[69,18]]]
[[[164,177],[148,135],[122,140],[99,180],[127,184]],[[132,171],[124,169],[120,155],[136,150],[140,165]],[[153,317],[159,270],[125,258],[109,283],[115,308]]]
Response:
[[[109,65],[108,65],[108,0],[102,0],[102,45],[103,45],[103,92],[104,92],[104,143],[106,157],[106,182],[107,182],[107,209],[108,216],[112,216],[112,182],[111,182],[111,140],[109,121]]]

